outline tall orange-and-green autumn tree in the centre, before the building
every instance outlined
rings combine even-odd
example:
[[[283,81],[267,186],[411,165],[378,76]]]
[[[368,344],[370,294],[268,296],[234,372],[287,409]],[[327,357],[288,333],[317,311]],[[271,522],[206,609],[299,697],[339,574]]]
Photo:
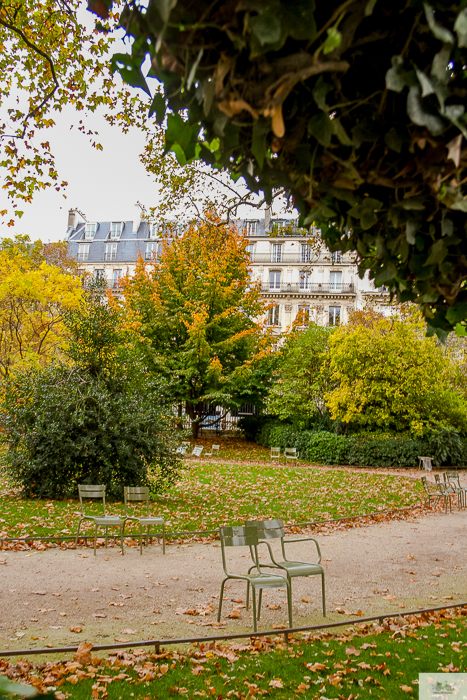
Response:
[[[245,247],[237,229],[211,213],[168,237],[160,257],[149,266],[140,260],[123,283],[152,370],[167,379],[194,437],[209,405],[227,411],[265,392],[258,364],[270,340],[255,320],[263,303],[250,284]]]

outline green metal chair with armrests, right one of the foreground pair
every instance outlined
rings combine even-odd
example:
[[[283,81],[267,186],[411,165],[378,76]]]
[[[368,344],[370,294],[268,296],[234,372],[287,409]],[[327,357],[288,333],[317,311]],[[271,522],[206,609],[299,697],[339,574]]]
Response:
[[[321,596],[323,603],[323,617],[326,617],[326,592],[325,592],[325,581],[324,581],[324,569],[320,566],[321,563],[321,550],[317,540],[313,537],[300,537],[299,539],[286,540],[285,539],[285,529],[283,520],[246,520],[245,527],[254,527],[258,533],[258,545],[265,544],[269,550],[269,556],[271,557],[270,564],[262,564],[261,566],[265,569],[278,569],[283,571],[292,585],[292,578],[295,576],[321,576]],[[282,561],[276,561],[271,548],[271,545],[266,540],[280,539],[281,549],[282,549]],[[287,558],[285,552],[286,544],[294,544],[295,542],[314,542],[316,549],[318,551],[318,561],[303,562],[303,561],[291,561]],[[253,553],[252,558],[255,564],[258,562],[258,552],[257,547]],[[251,571],[251,569],[250,569]],[[248,607],[248,591],[247,591],[247,607]]]

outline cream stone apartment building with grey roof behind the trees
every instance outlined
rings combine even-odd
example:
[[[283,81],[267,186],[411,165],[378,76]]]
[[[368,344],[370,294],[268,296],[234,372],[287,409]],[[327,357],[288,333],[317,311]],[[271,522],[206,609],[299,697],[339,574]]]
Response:
[[[330,253],[319,232],[297,228],[292,219],[239,219],[247,238],[251,280],[259,282],[268,302],[266,321],[278,333],[297,320],[306,325],[346,323],[351,311],[372,303],[387,309],[388,294],[368,277],[359,278],[354,256]],[[83,273],[106,281],[118,292],[120,277],[134,272],[141,256],[157,258],[161,240],[156,224],[138,215],[134,221],[85,222],[69,212],[68,254]]]

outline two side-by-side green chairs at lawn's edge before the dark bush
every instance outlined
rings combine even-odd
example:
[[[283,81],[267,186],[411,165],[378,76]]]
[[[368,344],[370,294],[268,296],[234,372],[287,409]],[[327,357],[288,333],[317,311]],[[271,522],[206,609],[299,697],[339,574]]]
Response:
[[[75,547],[78,544],[79,530],[81,523],[84,520],[91,520],[94,523],[94,556],[96,555],[96,543],[97,543],[97,528],[103,527],[105,530],[105,547],[107,548],[107,531],[109,527],[120,528],[120,544],[122,548],[122,554],[125,554],[123,550],[123,538],[125,536],[125,525],[128,520],[135,521],[139,524],[139,552],[143,553],[143,527],[147,528],[146,531],[146,544],[149,544],[149,531],[152,525],[162,525],[162,553],[165,554],[165,522],[163,518],[158,518],[149,512],[149,488],[147,486],[124,486],[123,488],[123,498],[125,501],[125,517],[119,518],[117,515],[107,515],[105,510],[105,486],[103,484],[97,485],[83,485],[78,486],[79,501],[81,505],[81,518],[78,523],[78,530],[75,537]],[[84,511],[84,499],[92,498],[94,500],[102,501],[102,515],[90,515]],[[128,513],[128,504],[132,502],[142,502],[146,503],[146,514],[142,516],[130,515]],[[159,538],[158,538],[159,539]]]

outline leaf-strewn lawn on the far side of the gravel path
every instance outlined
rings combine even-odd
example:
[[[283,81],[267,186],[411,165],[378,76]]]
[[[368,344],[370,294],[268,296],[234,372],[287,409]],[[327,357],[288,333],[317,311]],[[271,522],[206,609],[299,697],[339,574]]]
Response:
[[[6,480],[0,481],[0,532],[4,536],[75,532],[77,500],[28,500],[8,495],[7,489]],[[223,523],[254,518],[299,523],[358,515],[414,505],[420,497],[418,482],[401,476],[338,468],[188,462],[178,484],[167,494],[154,497],[152,510],[164,517],[169,531],[175,532],[215,529]],[[108,511],[123,515],[123,504],[110,503]],[[91,508],[90,512],[97,510]]]

